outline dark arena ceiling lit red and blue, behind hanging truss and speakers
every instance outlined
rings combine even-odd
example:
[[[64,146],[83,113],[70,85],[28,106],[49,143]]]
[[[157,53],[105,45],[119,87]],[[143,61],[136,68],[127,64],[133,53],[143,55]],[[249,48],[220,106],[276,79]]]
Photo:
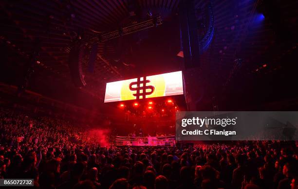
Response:
[[[183,58],[176,56],[179,0],[2,0],[1,81],[18,85],[38,39],[28,88],[80,106],[103,102],[107,82],[177,70],[184,71],[186,102],[193,110],[236,110],[296,98],[297,1],[194,0],[202,31],[209,3],[214,37],[201,54],[200,67],[185,69]],[[94,72],[83,68],[87,85],[72,84],[68,59],[76,37],[109,32],[150,15],[160,15],[163,25],[99,43]]]

